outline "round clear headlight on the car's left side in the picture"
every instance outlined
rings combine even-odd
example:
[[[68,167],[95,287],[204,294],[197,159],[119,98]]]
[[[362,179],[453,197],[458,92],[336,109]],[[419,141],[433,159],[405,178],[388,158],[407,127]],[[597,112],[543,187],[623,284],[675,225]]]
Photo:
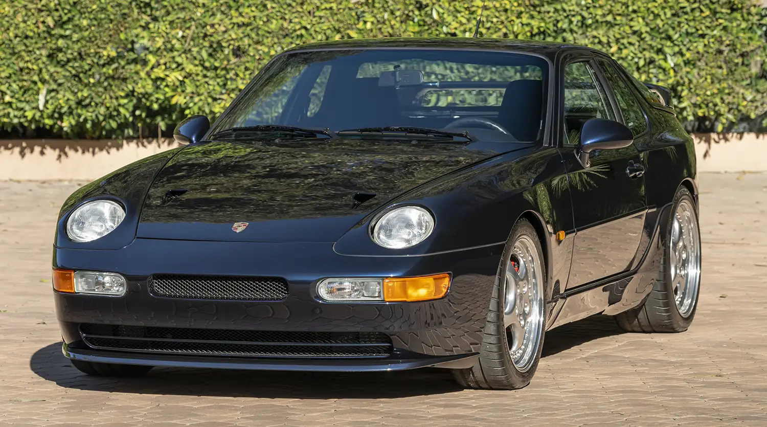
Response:
[[[67,235],[73,241],[92,241],[108,235],[125,218],[123,207],[111,200],[88,202],[67,220]]]

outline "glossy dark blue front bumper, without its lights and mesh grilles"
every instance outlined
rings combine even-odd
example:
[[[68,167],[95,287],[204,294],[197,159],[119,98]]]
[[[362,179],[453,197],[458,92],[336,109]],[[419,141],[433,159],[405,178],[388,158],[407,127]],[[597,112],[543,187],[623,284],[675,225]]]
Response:
[[[54,292],[72,359],[153,366],[254,370],[405,370],[423,366],[470,366],[482,342],[482,327],[502,245],[421,257],[338,255],[324,243],[248,243],[136,239],[116,251],[55,248],[54,268],[113,271],[128,284],[123,297]],[[328,277],[417,276],[450,272],[446,297],[410,303],[328,303],[314,286]],[[156,297],[152,274],[274,276],[288,281],[284,301],[211,301]],[[81,324],[317,333],[385,333],[386,357],[253,357],[158,354],[94,349]],[[468,365],[467,365],[468,364]]]

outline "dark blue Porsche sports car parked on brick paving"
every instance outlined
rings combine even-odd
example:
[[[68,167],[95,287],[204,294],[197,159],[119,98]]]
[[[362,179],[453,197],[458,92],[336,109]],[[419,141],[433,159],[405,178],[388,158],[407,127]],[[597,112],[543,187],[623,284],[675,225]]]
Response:
[[[562,324],[693,321],[693,140],[670,90],[601,51],[304,45],[174,137],[61,208],[54,299],[84,373],[436,366],[518,389]]]

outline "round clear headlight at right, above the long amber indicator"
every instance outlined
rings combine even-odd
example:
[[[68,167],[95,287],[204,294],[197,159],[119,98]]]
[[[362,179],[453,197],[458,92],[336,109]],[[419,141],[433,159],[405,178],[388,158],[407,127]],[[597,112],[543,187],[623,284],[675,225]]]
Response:
[[[373,241],[384,248],[402,249],[418,245],[434,230],[434,217],[418,206],[392,209],[373,227]]]

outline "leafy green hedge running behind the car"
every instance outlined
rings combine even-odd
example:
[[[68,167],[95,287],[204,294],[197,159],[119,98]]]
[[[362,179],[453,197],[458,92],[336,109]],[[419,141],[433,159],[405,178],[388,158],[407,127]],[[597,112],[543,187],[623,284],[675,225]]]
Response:
[[[480,0],[2,0],[0,128],[156,134],[214,118],[274,54],[340,38],[466,36]],[[761,123],[767,9],[749,0],[490,0],[484,37],[587,44],[674,90],[690,130]],[[742,124],[741,124],[742,126]]]

